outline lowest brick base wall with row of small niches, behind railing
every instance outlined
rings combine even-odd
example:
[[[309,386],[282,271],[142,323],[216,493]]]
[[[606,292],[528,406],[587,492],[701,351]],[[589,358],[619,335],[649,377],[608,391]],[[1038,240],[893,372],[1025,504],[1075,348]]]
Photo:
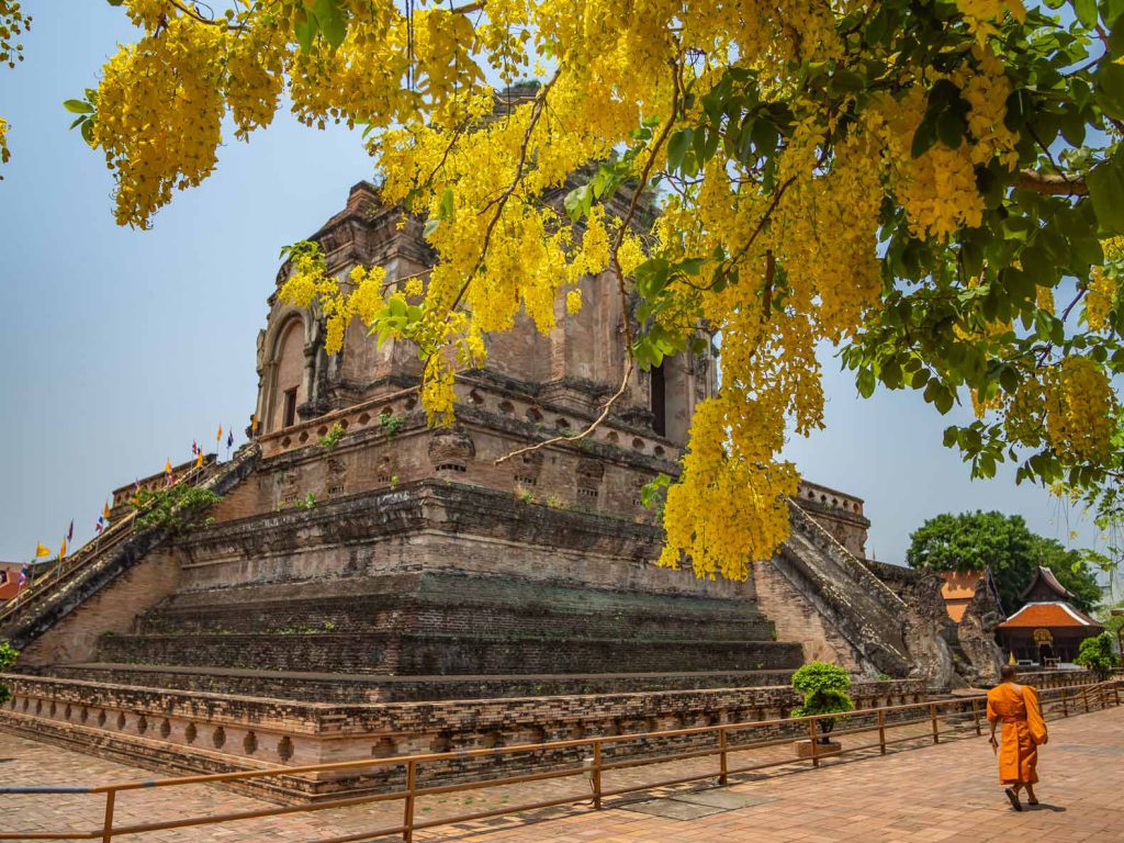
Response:
[[[719,723],[785,718],[798,698],[788,687],[538,699],[390,705],[323,705],[155,691],[34,677],[8,679],[12,700],[0,708],[11,731],[102,756],[162,770],[232,770],[364,758],[510,746],[550,740],[636,734]],[[863,682],[852,689],[870,708],[923,699],[917,681]],[[858,718],[853,718],[858,723]],[[852,724],[854,725],[854,724]],[[803,735],[803,724],[778,724],[734,735],[732,743]],[[713,742],[713,736],[705,738]],[[606,747],[606,758],[698,745],[640,735]],[[553,751],[424,765],[424,781],[471,779],[574,763],[583,751]],[[281,776],[261,781],[261,795],[287,801],[339,791],[383,789],[393,776]]]

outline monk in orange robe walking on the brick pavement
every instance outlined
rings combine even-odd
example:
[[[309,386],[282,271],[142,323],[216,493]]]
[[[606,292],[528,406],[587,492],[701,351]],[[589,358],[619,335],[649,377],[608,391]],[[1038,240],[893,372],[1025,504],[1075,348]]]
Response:
[[[1042,719],[1039,695],[1028,685],[1018,683],[1014,665],[1005,664],[1000,671],[1003,682],[987,692],[987,718],[991,724],[991,746],[999,756],[999,781],[1010,807],[1022,810],[1018,791],[1026,788],[1026,801],[1037,805],[1034,785],[1037,783],[1039,746],[1046,742],[1046,724]],[[1003,723],[1003,743],[996,741],[995,728]]]

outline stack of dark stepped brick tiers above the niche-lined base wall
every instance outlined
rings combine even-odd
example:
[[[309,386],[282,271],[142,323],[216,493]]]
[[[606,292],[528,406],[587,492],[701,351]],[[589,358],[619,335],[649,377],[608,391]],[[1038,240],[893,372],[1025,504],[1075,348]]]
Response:
[[[48,673],[316,700],[667,690],[786,682],[800,645],[774,635],[750,601],[424,572],[176,593]]]

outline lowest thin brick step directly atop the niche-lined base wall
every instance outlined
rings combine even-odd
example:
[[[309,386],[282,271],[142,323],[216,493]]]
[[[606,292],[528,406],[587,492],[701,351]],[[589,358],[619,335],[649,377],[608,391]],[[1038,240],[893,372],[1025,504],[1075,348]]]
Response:
[[[788,685],[791,670],[667,673],[542,673],[466,677],[370,677],[307,671],[155,667],[120,663],[57,665],[62,679],[314,703],[423,703],[581,694],[637,694]]]

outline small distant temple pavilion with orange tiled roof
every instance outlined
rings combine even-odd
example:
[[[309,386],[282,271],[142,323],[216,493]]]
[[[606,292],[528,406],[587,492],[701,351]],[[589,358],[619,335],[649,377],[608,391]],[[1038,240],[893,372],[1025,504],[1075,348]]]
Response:
[[[1073,595],[1049,568],[1040,566],[1023,591],[1026,605],[997,629],[1004,652],[1018,661],[1072,662],[1085,638],[1105,627],[1069,602]]]

